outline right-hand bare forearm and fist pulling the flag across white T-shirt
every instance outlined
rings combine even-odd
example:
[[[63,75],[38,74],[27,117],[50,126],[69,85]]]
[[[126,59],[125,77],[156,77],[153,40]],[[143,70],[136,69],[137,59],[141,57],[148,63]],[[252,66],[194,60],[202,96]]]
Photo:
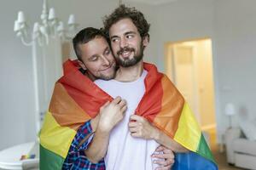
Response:
[[[143,116],[132,115],[130,120],[131,122],[129,122],[128,126],[131,136],[135,138],[154,139],[157,143],[166,146],[174,152],[189,151],[167,136],[166,133],[163,133],[157,127],[152,126]]]

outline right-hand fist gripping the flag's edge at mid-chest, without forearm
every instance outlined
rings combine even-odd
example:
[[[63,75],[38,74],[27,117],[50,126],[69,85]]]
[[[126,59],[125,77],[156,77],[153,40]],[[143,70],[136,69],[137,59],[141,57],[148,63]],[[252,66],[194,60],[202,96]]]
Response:
[[[128,123],[131,136],[142,139],[156,139],[158,129],[153,127],[143,116],[132,115]]]

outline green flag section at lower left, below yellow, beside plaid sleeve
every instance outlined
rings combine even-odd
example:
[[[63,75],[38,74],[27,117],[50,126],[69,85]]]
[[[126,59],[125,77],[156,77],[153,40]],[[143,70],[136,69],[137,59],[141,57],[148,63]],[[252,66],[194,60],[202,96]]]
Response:
[[[40,144],[40,170],[62,169],[64,159]]]

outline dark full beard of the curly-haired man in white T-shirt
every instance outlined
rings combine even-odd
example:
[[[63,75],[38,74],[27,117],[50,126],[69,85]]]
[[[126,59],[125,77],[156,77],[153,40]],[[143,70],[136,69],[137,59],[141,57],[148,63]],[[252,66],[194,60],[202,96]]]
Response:
[[[143,42],[140,44],[140,48],[137,51],[137,54],[134,54],[134,57],[132,59],[121,59],[119,57],[119,54],[122,54],[124,52],[134,52],[135,53],[135,48],[120,48],[120,50],[117,52],[117,55],[115,56],[116,62],[119,64],[119,66],[122,67],[130,67],[133,65],[136,65],[139,61],[143,59]]]

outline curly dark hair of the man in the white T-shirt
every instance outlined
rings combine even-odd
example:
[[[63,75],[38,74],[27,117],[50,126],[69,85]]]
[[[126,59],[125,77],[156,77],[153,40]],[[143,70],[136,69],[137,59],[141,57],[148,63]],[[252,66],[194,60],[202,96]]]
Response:
[[[104,30],[109,36],[109,29],[113,24],[117,23],[122,19],[131,19],[133,24],[137,27],[141,37],[147,37],[149,40],[149,27],[148,21],[144,18],[142,12],[138,11],[136,8],[125,7],[124,4],[121,4],[118,8],[115,8],[112,14],[106,15],[103,18]]]

